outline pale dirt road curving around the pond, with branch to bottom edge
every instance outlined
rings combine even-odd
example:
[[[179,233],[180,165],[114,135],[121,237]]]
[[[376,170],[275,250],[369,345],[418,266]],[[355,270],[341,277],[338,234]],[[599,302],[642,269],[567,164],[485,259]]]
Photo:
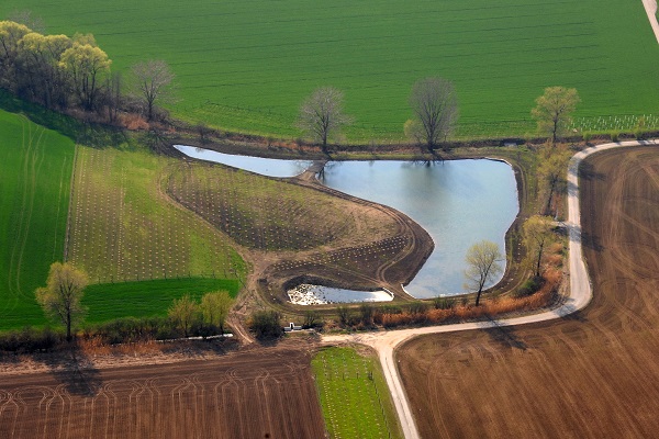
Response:
[[[570,236],[570,296],[560,307],[539,314],[533,314],[510,319],[413,328],[386,333],[367,333],[361,335],[340,335],[323,337],[323,341],[326,344],[357,342],[371,346],[378,351],[378,356],[380,358],[380,362],[382,363],[382,369],[384,370],[384,374],[387,378],[387,383],[389,384],[389,389],[391,390],[396,413],[399,415],[403,434],[406,439],[416,439],[420,438],[420,435],[415,425],[414,416],[412,415],[412,409],[410,408],[410,404],[403,384],[401,382],[400,372],[394,361],[393,351],[395,347],[415,336],[439,333],[465,331],[472,329],[500,328],[514,325],[526,325],[566,317],[579,309],[584,308],[592,299],[592,289],[585,263],[583,261],[583,254],[581,247],[581,213],[579,207],[578,175],[579,166],[585,157],[592,154],[606,149],[640,145],[659,145],[659,140],[633,140],[600,145],[576,154],[570,160],[568,167],[567,223]]]

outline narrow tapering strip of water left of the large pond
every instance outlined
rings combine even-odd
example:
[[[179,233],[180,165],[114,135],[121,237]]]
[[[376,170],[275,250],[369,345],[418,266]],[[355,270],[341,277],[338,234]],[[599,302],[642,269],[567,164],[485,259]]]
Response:
[[[186,145],[174,145],[174,147],[188,157],[223,164],[268,177],[295,177],[304,172],[306,168],[313,164],[313,161],[310,160],[281,160],[261,157],[236,156]]]

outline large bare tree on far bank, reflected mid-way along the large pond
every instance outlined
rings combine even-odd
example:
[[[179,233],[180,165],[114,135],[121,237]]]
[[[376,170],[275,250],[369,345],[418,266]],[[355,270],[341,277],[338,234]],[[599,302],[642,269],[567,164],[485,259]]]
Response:
[[[440,139],[446,139],[458,120],[458,97],[453,82],[443,78],[416,81],[410,94],[410,106],[417,125],[410,125],[413,139],[423,139],[432,153]]]

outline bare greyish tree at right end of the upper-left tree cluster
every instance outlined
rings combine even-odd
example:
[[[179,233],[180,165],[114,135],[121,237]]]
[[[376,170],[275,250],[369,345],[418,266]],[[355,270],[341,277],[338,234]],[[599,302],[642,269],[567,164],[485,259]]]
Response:
[[[174,99],[174,72],[169,65],[160,59],[150,59],[135,64],[131,69],[133,93],[142,102],[147,121],[154,117],[156,102]]]

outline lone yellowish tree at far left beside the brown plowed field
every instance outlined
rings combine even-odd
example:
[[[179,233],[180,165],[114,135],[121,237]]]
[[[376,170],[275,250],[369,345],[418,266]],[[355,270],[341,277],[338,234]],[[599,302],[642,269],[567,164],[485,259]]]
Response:
[[[87,274],[70,263],[51,266],[46,286],[36,289],[36,302],[48,317],[66,327],[66,339],[71,340],[71,328],[85,315],[80,300],[88,284]]]

